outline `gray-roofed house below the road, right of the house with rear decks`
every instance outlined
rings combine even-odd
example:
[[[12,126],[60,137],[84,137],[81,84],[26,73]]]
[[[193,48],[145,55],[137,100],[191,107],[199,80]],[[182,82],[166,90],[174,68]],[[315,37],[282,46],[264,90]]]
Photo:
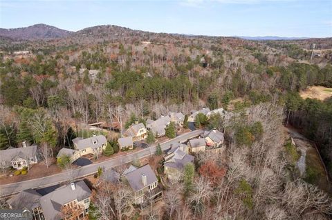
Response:
[[[186,154],[182,149],[181,146],[171,148],[164,157],[164,173],[168,179],[178,179],[184,166],[194,162],[194,157]]]

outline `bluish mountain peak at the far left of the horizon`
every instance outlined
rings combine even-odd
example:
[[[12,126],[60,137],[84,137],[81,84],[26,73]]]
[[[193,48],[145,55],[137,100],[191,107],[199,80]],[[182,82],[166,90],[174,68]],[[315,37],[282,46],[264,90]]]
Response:
[[[9,37],[11,39],[55,39],[67,37],[71,33],[71,31],[62,30],[43,23],[26,28],[0,28],[0,36]]]

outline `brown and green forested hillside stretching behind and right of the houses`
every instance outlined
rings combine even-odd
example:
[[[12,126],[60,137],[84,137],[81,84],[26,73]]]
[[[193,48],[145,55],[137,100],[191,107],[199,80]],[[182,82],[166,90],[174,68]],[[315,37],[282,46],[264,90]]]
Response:
[[[228,164],[214,159],[225,177],[216,185],[193,183],[190,205],[165,219],[331,217],[331,197],[293,172],[283,132],[293,126],[315,141],[332,176],[332,99],[298,93],[332,88],[331,38],[247,41],[97,26],[47,41],[0,40],[1,149],[24,140],[68,146],[81,122],[119,121],[123,129],[132,114],[145,120],[225,108],[237,113],[214,121],[228,141]],[[167,198],[166,208],[182,203]]]

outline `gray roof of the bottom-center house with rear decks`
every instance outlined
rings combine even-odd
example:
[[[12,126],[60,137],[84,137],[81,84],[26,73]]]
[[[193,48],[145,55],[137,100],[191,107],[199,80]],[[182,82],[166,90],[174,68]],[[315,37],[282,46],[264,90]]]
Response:
[[[145,174],[145,176],[147,177],[146,186],[143,186],[142,174]],[[151,185],[151,183],[158,181],[156,174],[154,174],[154,171],[152,171],[149,164],[142,166],[141,168],[138,168],[137,170],[133,170],[132,172],[129,172],[129,173],[125,174],[124,176],[126,177],[131,188],[136,192],[139,190],[142,190],[142,188],[145,188],[145,187]]]

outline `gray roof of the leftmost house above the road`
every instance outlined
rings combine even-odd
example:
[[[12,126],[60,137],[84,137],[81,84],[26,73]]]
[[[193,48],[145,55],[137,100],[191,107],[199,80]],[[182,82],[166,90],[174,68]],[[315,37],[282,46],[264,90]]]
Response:
[[[11,166],[11,161],[15,157],[21,157],[22,159],[35,158],[37,155],[37,146],[27,146],[25,148],[10,148],[7,150],[0,150],[0,162],[5,163],[6,166]]]

